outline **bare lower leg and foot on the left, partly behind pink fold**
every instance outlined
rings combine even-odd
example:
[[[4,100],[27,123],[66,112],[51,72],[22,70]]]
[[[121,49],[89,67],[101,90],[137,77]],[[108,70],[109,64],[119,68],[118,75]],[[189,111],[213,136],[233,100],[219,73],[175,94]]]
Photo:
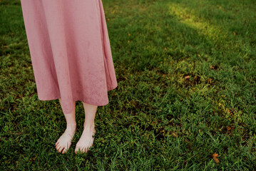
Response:
[[[61,103],[61,98],[59,98]],[[62,104],[61,104],[62,105]],[[73,105],[76,108],[76,102],[73,103]],[[73,135],[75,135],[76,132],[76,109],[73,110],[72,113],[64,113],[65,118],[66,118],[66,130],[65,132],[61,135],[60,138],[58,138],[56,142],[56,150],[58,152],[61,152],[62,154],[66,153],[71,146],[71,141],[73,139]]]

